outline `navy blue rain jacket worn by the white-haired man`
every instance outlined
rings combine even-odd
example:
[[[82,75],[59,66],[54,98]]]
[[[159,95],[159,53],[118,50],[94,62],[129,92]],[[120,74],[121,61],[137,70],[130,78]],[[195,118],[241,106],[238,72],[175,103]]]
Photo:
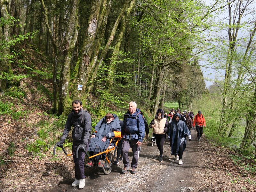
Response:
[[[128,110],[124,114],[124,128],[122,128],[123,138],[142,142],[145,136],[145,124],[140,109],[136,108],[133,114]]]

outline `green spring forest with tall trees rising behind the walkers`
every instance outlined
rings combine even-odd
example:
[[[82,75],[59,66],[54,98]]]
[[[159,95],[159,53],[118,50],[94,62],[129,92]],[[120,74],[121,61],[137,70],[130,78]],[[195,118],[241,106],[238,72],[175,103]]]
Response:
[[[148,122],[158,108],[169,113],[165,103],[201,110],[206,137],[251,159],[255,169],[255,5],[0,0],[0,165],[18,146],[47,153],[79,99],[92,126],[107,112],[122,119],[130,101]],[[215,79],[205,77],[205,69]],[[206,87],[205,80],[212,84]],[[31,130],[13,138],[4,131],[13,124]]]

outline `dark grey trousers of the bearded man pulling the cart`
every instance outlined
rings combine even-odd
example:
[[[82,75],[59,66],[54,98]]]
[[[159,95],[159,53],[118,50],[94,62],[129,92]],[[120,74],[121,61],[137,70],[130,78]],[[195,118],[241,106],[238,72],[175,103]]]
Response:
[[[79,150],[78,152],[78,159],[76,158],[76,149],[79,145],[76,145],[73,143],[72,145],[72,153],[73,153],[73,159],[75,164],[75,178],[76,179],[84,179],[84,157],[85,153],[82,150]]]

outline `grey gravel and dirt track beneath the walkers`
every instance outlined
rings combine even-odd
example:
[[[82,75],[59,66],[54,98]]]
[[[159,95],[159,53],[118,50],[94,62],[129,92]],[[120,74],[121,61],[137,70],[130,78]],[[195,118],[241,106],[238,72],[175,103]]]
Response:
[[[123,163],[113,165],[110,175],[103,175],[99,168],[87,168],[86,187],[80,191],[186,191],[187,187],[194,186],[194,173],[198,168],[197,159],[199,158],[199,145],[196,139],[196,132],[192,130],[192,140],[187,143],[187,148],[183,154],[183,165],[178,165],[178,161],[170,154],[169,143],[164,144],[163,162],[158,162],[159,150],[156,146],[151,147],[151,143],[143,145],[140,152],[140,158],[137,168],[137,174],[132,175],[130,170],[126,174],[120,174]],[[129,153],[131,157],[131,153]],[[131,159],[130,159],[131,160]],[[74,178],[73,178],[74,180]],[[67,183],[60,181],[55,186],[52,185],[53,191],[76,191],[77,188],[71,187],[73,181]],[[184,180],[184,181],[180,181]]]

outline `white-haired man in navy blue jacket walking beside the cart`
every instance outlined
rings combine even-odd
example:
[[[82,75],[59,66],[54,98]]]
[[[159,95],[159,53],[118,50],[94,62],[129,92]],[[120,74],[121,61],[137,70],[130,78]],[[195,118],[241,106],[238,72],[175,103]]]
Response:
[[[138,151],[145,136],[145,124],[140,109],[134,101],[129,103],[129,110],[124,114],[124,127],[122,127],[123,135],[123,163],[122,173],[126,173],[130,167],[128,150],[132,148],[132,174],[136,173],[138,165]]]

